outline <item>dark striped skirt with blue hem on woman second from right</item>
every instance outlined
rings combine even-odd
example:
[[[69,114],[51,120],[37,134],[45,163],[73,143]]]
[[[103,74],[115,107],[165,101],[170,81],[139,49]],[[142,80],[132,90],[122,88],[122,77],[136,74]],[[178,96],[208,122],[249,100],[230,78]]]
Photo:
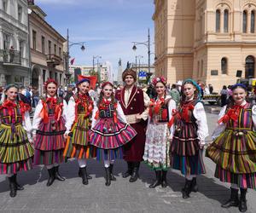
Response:
[[[184,176],[206,173],[195,123],[177,124],[170,147],[170,164]]]

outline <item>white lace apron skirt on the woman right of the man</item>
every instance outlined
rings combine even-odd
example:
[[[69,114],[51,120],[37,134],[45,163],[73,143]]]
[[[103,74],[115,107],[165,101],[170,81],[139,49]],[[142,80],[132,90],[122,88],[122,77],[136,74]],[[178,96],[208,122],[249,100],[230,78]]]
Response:
[[[170,130],[167,124],[148,124],[144,150],[144,163],[153,170],[170,168]]]

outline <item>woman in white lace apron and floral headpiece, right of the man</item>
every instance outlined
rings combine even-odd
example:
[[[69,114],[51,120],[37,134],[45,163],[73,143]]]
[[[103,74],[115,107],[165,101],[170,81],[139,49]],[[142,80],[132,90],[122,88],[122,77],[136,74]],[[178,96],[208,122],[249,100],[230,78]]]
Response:
[[[172,110],[176,108],[176,103],[170,95],[166,95],[166,78],[153,78],[152,84],[157,97],[149,105],[143,159],[154,170],[156,176],[156,180],[149,187],[154,188],[160,184],[167,187],[166,174],[170,168],[169,150],[172,137],[168,122],[172,119]]]

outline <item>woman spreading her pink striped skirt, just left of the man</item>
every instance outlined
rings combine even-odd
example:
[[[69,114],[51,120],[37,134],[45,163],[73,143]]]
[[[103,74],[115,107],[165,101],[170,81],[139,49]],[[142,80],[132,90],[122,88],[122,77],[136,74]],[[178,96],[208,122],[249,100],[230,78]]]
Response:
[[[96,159],[104,162],[106,186],[116,181],[113,162],[123,158],[122,146],[135,135],[137,132],[127,124],[119,101],[114,99],[113,84],[102,83],[102,92],[92,113],[90,144],[97,148]]]

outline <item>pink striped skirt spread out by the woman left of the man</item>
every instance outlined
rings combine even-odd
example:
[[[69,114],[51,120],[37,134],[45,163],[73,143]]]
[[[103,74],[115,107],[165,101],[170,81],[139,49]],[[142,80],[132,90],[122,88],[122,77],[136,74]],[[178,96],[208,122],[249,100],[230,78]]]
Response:
[[[137,135],[129,124],[113,118],[101,118],[96,126],[90,130],[90,144],[97,148],[97,160],[113,160],[123,158],[122,146]]]

